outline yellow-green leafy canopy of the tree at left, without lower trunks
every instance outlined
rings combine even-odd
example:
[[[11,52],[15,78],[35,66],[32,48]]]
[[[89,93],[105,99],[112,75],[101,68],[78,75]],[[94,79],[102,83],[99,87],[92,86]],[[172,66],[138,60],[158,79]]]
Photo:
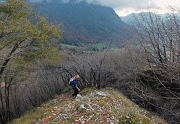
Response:
[[[0,3],[0,78],[6,67],[24,69],[39,61],[58,62],[60,26],[48,23],[23,0]]]

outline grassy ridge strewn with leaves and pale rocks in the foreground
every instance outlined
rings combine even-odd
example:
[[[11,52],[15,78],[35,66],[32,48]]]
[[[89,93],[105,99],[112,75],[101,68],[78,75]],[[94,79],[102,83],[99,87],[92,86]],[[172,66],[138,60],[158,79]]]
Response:
[[[166,124],[112,88],[57,96],[11,124]]]

